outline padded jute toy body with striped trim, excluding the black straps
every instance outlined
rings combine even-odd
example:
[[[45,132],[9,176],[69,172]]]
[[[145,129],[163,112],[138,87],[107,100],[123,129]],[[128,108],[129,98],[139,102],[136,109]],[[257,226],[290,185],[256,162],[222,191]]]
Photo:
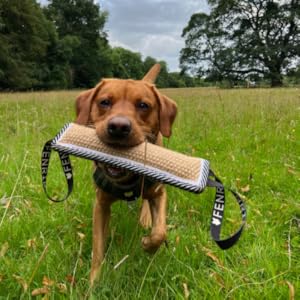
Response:
[[[110,147],[99,140],[94,128],[75,123],[63,129],[52,147],[195,193],[205,188],[209,173],[209,162],[202,158],[190,157],[151,143],[125,149]]]

